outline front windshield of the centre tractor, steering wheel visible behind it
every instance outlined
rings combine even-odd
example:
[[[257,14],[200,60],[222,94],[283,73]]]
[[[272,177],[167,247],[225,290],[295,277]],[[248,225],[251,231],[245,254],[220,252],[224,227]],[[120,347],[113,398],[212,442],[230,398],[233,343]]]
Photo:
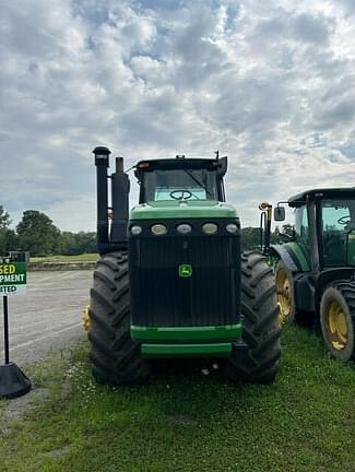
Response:
[[[145,172],[141,185],[141,203],[218,200],[216,172],[204,168]]]

